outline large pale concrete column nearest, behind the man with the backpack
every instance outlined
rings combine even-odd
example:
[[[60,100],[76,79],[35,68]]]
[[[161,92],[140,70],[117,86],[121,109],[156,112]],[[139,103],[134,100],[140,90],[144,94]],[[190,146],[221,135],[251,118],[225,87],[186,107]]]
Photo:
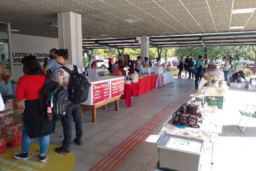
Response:
[[[74,12],[58,14],[59,48],[68,50],[68,61],[82,71],[82,21]]]

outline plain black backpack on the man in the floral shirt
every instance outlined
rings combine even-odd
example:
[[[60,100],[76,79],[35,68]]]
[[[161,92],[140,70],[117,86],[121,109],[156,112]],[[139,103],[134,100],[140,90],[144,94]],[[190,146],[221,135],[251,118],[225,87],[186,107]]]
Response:
[[[74,65],[74,70],[71,71],[69,68],[61,67],[70,74],[70,80],[68,83],[68,93],[71,103],[80,104],[87,100],[89,94],[89,88],[91,84],[83,74],[78,73],[77,66]]]

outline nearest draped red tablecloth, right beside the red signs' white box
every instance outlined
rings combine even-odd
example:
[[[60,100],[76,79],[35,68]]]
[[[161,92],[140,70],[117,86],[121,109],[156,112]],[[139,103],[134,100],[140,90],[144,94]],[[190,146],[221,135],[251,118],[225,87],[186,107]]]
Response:
[[[131,94],[134,98],[137,97],[139,89],[139,83],[124,84],[124,94],[121,96],[121,99],[125,100],[128,108],[132,105]]]

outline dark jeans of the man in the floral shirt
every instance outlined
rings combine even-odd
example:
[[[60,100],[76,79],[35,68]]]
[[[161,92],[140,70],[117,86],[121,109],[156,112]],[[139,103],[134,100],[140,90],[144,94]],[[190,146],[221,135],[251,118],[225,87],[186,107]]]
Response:
[[[70,146],[71,144],[71,134],[72,134],[72,117],[76,124],[76,136],[77,138],[82,137],[82,120],[80,117],[80,106],[79,104],[72,104],[68,106],[66,110],[66,114],[62,117],[62,126],[63,126],[63,134],[64,134],[64,140],[63,145]]]

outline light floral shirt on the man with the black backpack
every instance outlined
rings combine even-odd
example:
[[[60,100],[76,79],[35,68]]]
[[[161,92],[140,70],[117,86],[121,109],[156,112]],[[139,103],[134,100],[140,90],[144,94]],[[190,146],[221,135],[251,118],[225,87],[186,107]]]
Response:
[[[65,67],[67,67],[71,71],[74,70],[74,65],[72,65],[71,63],[66,64]],[[79,73],[81,73],[79,68],[77,68],[77,70]],[[65,71],[65,69],[59,68],[57,70],[56,82],[59,83],[60,85],[63,85],[66,89],[68,89],[69,78],[70,78],[70,75],[68,74],[67,71]]]

